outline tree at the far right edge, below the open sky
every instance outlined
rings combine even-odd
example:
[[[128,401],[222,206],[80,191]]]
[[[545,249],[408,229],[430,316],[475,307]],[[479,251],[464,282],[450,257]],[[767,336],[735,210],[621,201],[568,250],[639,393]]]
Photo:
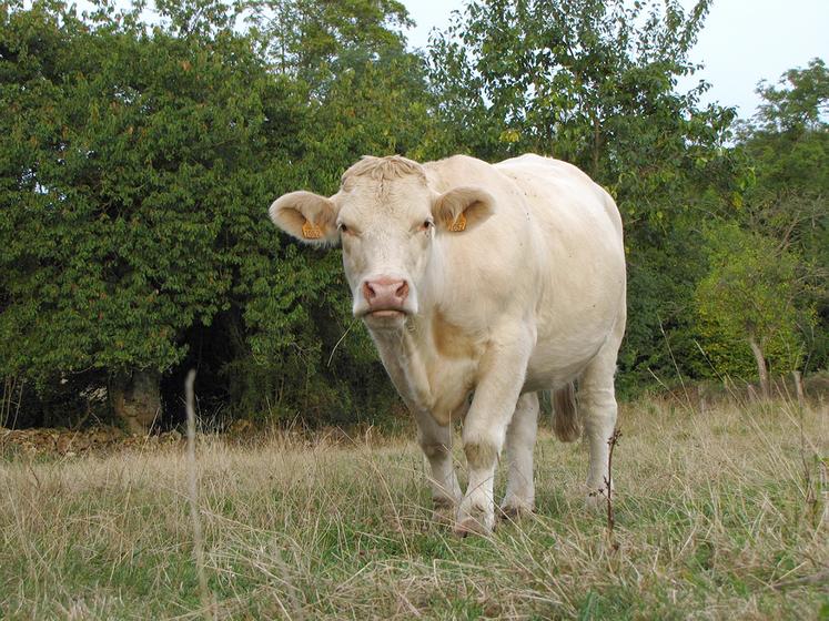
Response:
[[[801,304],[817,309],[816,329],[803,334],[809,368],[820,368],[829,363],[829,70],[813,59],[758,93],[759,111],[739,132],[754,180],[736,215],[797,257]]]

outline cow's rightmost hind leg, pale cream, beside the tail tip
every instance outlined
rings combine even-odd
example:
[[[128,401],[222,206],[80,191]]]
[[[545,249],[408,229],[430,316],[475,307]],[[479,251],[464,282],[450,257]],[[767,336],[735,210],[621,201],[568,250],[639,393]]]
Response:
[[[619,344],[625,330],[624,318],[620,324],[614,330],[611,338],[587,365],[578,381],[584,439],[590,455],[587,471],[587,506],[589,508],[604,506],[605,500],[601,495],[607,491],[606,481],[610,479],[607,462],[610,450],[608,440],[616,428],[614,375]]]

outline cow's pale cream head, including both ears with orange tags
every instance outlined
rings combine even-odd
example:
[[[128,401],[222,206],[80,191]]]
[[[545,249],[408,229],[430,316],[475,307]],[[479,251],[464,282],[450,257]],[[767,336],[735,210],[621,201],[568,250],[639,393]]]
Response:
[[[492,195],[481,187],[438,194],[423,166],[395,155],[363,157],[330,198],[292,192],[270,213],[280,228],[305,243],[341,243],[354,316],[370,327],[396,328],[418,313],[417,292],[436,237],[466,234],[493,208]]]

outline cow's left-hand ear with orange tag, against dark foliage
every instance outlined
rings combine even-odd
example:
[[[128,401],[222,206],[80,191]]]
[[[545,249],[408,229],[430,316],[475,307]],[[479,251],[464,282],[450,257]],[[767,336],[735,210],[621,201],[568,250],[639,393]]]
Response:
[[[291,192],[276,198],[271,208],[273,223],[306,244],[336,244],[336,204],[313,192]]]

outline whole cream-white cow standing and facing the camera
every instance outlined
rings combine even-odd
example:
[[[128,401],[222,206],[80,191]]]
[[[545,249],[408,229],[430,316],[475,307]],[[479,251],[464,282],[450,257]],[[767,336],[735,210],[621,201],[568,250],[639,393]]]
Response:
[[[600,502],[626,320],[621,218],[601,186],[535,154],[364,156],[333,196],[291,192],[270,215],[305,243],[342,245],[354,316],[414,416],[438,518],[459,533],[493,530],[503,448],[501,511],[534,510],[540,390],[553,391],[557,437],[584,437],[587,502]],[[451,452],[458,419],[465,495]]]

